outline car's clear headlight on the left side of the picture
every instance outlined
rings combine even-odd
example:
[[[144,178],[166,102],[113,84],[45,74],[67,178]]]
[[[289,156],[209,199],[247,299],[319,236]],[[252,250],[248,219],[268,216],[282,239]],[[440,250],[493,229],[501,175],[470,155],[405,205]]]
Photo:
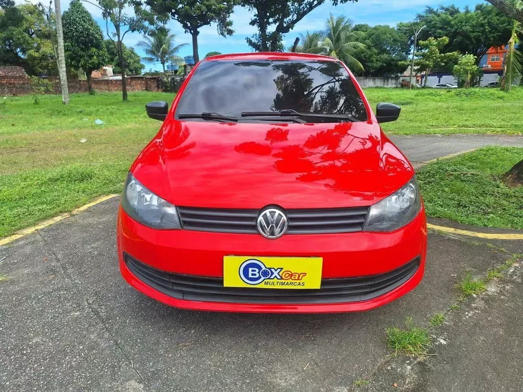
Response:
[[[158,229],[180,229],[178,209],[145,188],[131,173],[127,175],[122,195],[122,208],[145,226]]]

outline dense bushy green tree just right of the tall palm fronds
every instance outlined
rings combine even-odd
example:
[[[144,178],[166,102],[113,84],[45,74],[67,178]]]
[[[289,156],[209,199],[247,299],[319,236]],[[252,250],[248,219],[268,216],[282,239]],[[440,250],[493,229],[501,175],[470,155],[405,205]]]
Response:
[[[365,76],[401,74],[409,65],[409,36],[388,25],[355,25],[361,31],[359,42],[365,49],[358,51],[358,58],[365,69]]]

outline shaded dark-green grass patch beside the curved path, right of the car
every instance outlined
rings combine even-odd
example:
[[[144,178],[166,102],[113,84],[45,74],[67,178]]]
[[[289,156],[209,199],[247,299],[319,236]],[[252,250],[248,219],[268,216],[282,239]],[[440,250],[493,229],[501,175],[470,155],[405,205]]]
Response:
[[[501,176],[523,159],[523,148],[491,146],[423,166],[418,182],[427,215],[464,224],[523,229],[523,186]]]

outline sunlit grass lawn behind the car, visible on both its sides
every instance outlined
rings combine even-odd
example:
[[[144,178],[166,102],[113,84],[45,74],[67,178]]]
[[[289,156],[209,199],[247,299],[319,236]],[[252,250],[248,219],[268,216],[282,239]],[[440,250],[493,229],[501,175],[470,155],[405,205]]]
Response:
[[[367,89],[377,102],[403,106],[387,133],[523,133],[523,89]],[[120,193],[129,165],[160,128],[145,103],[173,94],[73,94],[0,97],[0,237],[70,211],[94,197]],[[96,125],[100,119],[105,124]],[[80,140],[86,139],[85,142]],[[431,166],[430,166],[431,167]],[[427,171],[429,168],[427,168]],[[430,193],[427,193],[430,197]],[[434,202],[429,212],[442,216]]]

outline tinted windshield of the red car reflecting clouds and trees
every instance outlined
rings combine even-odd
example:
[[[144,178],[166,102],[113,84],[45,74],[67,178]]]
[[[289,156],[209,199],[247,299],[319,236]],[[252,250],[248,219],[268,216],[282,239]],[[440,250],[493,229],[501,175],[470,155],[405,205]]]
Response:
[[[361,96],[343,65],[334,61],[204,61],[176,109],[242,117],[247,111],[348,115],[367,120]]]

